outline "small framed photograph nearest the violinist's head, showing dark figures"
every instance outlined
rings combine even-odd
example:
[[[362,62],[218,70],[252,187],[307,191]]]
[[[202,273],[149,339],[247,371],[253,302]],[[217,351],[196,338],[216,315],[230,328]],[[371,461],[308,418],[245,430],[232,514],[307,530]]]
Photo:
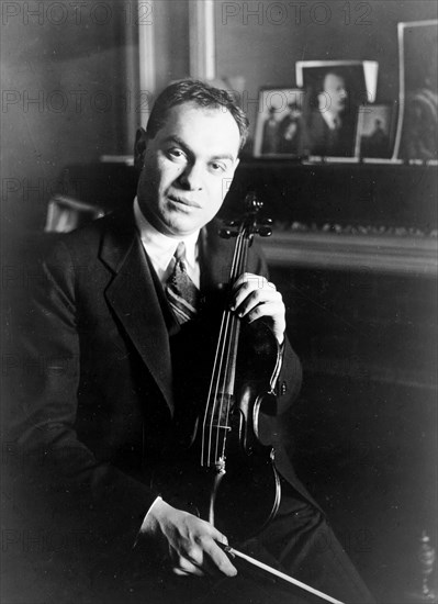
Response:
[[[254,145],[255,157],[300,157],[304,152],[304,93],[297,88],[263,88]]]

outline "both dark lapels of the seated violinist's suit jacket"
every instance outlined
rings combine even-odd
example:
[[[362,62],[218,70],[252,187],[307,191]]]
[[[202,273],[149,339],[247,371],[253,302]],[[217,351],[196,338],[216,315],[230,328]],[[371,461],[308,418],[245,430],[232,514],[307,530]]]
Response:
[[[114,212],[108,216],[100,258],[114,273],[105,298],[148,367],[170,411],[173,411],[172,369],[169,333],[179,329],[157,293],[155,276],[136,231],[133,212]],[[218,221],[201,233],[201,290],[217,291],[228,280],[234,246],[217,235]]]

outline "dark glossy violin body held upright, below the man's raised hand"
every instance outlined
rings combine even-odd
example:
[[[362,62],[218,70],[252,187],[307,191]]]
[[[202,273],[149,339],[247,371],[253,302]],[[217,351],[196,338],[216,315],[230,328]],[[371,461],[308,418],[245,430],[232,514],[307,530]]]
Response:
[[[202,413],[178,422],[154,488],[175,507],[211,522],[229,540],[259,533],[276,515],[280,480],[273,449],[260,441],[260,413],[273,414],[280,347],[262,322],[243,326],[223,465],[202,466]]]

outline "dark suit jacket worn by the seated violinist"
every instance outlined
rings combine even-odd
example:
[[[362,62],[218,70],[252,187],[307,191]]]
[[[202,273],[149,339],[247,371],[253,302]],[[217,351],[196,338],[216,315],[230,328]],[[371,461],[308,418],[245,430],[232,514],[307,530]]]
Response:
[[[248,270],[266,273],[250,249]],[[226,281],[232,251],[233,242],[203,231],[204,294]],[[53,514],[130,545],[157,495],[150,471],[175,406],[169,331],[178,325],[155,281],[132,210],[54,246],[23,323],[23,354],[37,369],[21,384],[12,430],[32,460],[26,480],[49,494]],[[278,383],[281,413],[301,383],[288,343]],[[278,466],[303,492],[282,451]]]

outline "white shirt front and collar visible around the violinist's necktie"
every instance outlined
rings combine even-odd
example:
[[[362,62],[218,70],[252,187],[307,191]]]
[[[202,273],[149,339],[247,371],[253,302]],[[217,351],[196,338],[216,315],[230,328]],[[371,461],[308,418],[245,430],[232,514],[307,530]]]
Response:
[[[157,231],[139,209],[138,199],[134,200],[134,216],[143,247],[149,256],[153,267],[164,286],[173,269],[173,254],[180,242],[186,245],[184,264],[190,279],[199,289],[201,270],[199,266],[198,237],[199,230],[186,237],[168,237]]]

